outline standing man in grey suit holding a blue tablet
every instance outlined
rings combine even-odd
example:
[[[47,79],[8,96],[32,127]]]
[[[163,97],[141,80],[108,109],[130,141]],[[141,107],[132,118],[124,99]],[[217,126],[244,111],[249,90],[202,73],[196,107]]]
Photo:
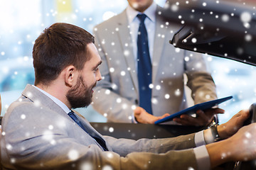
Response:
[[[206,72],[202,55],[169,44],[182,25],[165,21],[159,12],[161,7],[153,0],[127,1],[129,6],[122,13],[94,28],[95,46],[103,61],[100,65],[103,79],[95,88],[93,108],[109,122],[135,123],[135,116],[139,123],[154,123],[188,107],[183,74],[188,78],[186,85],[191,89],[195,104],[217,98],[215,84]],[[144,25],[148,36],[149,62],[151,60],[149,97],[140,96],[143,89],[139,89],[138,13],[146,14]],[[149,98],[147,106],[151,106],[152,115],[141,106],[142,98]],[[183,125],[208,125],[213,115],[200,112],[196,118],[182,115],[174,121]]]

